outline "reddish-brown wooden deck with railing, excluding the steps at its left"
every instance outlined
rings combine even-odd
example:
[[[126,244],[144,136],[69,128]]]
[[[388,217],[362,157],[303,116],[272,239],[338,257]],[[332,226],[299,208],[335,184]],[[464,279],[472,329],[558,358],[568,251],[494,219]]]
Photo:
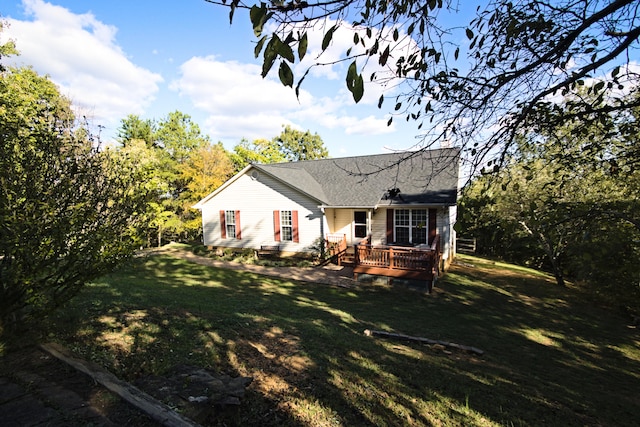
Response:
[[[437,235],[425,248],[359,244],[355,245],[353,273],[356,280],[360,274],[421,280],[431,292],[440,274],[441,257]]]

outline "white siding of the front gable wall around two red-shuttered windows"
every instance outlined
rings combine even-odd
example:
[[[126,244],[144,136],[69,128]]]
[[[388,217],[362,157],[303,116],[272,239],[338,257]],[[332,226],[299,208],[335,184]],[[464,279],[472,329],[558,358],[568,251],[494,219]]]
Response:
[[[222,239],[220,211],[240,211],[241,240]],[[298,211],[300,242],[274,240],[273,211]],[[284,252],[308,252],[322,236],[318,202],[265,174],[244,174],[202,205],[204,244],[232,248],[259,248],[279,243]]]

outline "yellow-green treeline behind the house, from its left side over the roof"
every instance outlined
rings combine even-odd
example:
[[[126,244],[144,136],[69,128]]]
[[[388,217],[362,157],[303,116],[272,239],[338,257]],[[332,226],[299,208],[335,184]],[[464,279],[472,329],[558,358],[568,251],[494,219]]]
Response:
[[[147,186],[153,197],[146,211],[144,246],[201,241],[200,215],[192,206],[249,163],[329,155],[318,134],[290,126],[272,139],[242,140],[227,151],[180,111],[160,120],[130,115],[121,121],[117,141],[110,149],[137,159],[150,176]]]

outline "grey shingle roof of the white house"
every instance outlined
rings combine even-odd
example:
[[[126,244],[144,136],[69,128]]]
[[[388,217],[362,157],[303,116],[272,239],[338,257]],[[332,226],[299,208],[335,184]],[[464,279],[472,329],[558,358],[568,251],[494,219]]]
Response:
[[[459,149],[443,148],[253,167],[325,206],[455,205],[459,159]]]

